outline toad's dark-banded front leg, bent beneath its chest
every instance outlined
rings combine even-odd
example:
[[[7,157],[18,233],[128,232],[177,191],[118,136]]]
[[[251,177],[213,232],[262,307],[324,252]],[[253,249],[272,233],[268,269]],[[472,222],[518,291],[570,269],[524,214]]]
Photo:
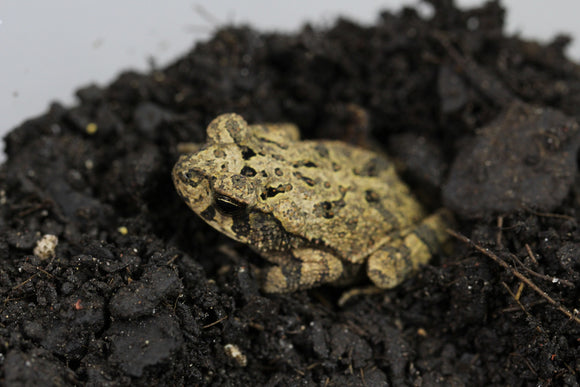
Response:
[[[267,293],[287,293],[336,281],[342,274],[340,259],[325,251],[297,249],[293,256],[269,258],[277,266],[268,268],[263,290]]]

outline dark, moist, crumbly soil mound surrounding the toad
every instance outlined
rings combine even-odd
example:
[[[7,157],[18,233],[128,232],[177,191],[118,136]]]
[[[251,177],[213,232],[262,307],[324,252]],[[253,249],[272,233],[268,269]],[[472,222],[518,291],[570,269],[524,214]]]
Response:
[[[580,324],[564,312],[580,306],[580,67],[565,37],[506,36],[496,2],[432,2],[428,20],[406,9],[372,27],[224,28],[13,130],[0,384],[578,386]],[[263,294],[262,260],[170,179],[177,144],[230,111],[387,150],[428,208],[449,206],[512,269],[455,241],[342,307],[344,288]],[[45,234],[54,257],[33,253]]]

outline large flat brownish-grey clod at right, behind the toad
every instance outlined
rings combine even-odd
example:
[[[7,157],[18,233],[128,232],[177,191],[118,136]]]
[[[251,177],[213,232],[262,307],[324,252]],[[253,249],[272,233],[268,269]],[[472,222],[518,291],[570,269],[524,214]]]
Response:
[[[577,173],[580,128],[550,108],[512,103],[464,146],[443,188],[445,203],[463,216],[551,211]]]

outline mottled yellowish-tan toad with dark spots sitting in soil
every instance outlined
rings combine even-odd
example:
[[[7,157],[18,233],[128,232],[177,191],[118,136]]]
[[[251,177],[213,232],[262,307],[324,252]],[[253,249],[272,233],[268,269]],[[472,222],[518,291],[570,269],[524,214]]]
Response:
[[[383,156],[338,141],[300,141],[291,124],[224,114],[173,168],[177,192],[207,223],[274,265],[266,292],[348,280],[366,263],[392,288],[447,239]]]

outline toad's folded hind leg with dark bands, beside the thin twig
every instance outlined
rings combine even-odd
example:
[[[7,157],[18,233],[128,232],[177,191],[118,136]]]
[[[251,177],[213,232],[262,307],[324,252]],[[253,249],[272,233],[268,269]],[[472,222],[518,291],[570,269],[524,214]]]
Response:
[[[376,286],[389,289],[397,286],[438,252],[449,236],[445,229],[451,223],[446,210],[423,219],[403,238],[375,251],[368,260],[367,274]]]

